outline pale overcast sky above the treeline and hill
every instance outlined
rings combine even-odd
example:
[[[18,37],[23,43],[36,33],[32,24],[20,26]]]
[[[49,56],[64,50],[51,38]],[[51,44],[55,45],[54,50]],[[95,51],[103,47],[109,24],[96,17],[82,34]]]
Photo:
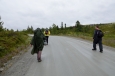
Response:
[[[14,30],[109,23],[115,22],[115,0],[0,0],[0,16],[3,27]]]

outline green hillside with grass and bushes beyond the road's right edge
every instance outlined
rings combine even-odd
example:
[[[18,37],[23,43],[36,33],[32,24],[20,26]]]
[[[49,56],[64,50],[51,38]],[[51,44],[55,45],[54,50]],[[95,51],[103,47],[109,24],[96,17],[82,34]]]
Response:
[[[111,47],[115,47],[115,24],[96,24],[99,25],[100,29],[104,32],[103,44]],[[93,41],[95,25],[80,25],[57,28],[56,25],[50,27],[52,35],[67,35],[83,38],[86,40]]]

